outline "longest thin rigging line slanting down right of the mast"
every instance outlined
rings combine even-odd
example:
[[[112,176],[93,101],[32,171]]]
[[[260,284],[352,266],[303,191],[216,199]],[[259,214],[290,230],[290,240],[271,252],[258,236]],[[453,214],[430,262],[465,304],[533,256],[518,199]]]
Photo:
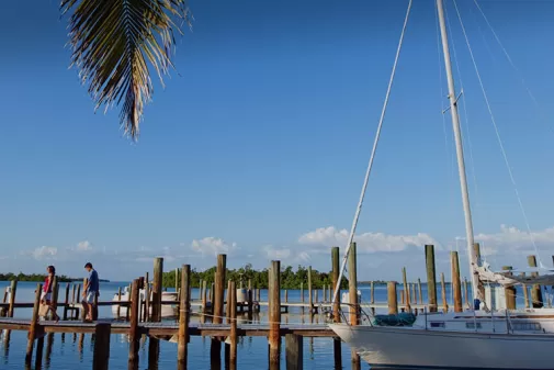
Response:
[[[519,203],[521,213],[523,214],[523,218],[524,218],[524,222],[525,222],[527,231],[529,233],[529,237],[531,238],[531,243],[532,243],[533,248],[535,250],[536,259],[539,260],[539,266],[544,268],[544,265],[542,264],[541,257],[539,255],[539,248],[536,248],[536,244],[534,242],[533,233],[531,233],[531,226],[529,225],[529,218],[527,216],[525,209],[523,208],[523,202],[521,201],[521,197],[519,194],[519,190],[518,190],[518,187],[516,184],[516,179],[513,177],[513,173],[512,173],[511,168],[510,168],[510,164],[508,161],[508,155],[506,154],[506,149],[504,148],[502,139],[500,138],[500,133],[498,131],[498,125],[496,124],[495,115],[493,114],[493,109],[490,108],[490,102],[488,101],[487,92],[486,92],[485,87],[483,85],[483,79],[480,78],[479,69],[477,68],[477,63],[475,61],[475,57],[473,55],[472,46],[470,44],[470,38],[467,37],[467,33],[465,32],[464,23],[462,21],[462,15],[460,14],[460,10],[457,9],[456,0],[453,0],[453,2],[454,2],[454,8],[456,9],[457,19],[460,20],[460,25],[462,26],[462,31],[464,33],[465,43],[467,44],[467,49],[470,51],[470,55],[472,57],[473,67],[475,68],[475,74],[477,75],[477,79],[479,81],[480,91],[483,92],[483,97],[485,98],[485,102],[487,104],[488,113],[490,114],[490,121],[493,122],[493,126],[495,128],[496,138],[498,139],[498,145],[500,146],[500,150],[502,153],[504,161],[506,164],[506,168],[508,169],[508,173],[510,176],[510,180],[511,180],[511,183],[513,186],[513,191],[516,192],[516,198],[518,199],[518,203]]]

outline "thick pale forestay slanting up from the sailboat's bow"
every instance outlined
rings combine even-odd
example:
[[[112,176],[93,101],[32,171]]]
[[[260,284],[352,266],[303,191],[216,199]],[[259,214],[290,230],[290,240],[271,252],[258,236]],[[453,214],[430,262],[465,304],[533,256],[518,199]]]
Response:
[[[393,70],[391,71],[391,79],[388,80],[388,87],[386,90],[385,101],[383,103],[383,110],[381,111],[381,117],[378,120],[377,131],[375,133],[375,139],[373,142],[373,148],[371,150],[370,161],[368,164],[368,170],[365,171],[365,178],[363,180],[362,191],[360,193],[360,200],[358,202],[358,208],[355,210],[354,220],[352,222],[352,228],[350,229],[350,235],[348,237],[348,243],[347,243],[346,250],[344,250],[344,257],[342,258],[342,266],[340,268],[339,278],[337,280],[339,282],[342,279],[344,267],[347,265],[348,253],[350,251],[350,245],[352,244],[352,240],[354,238],[355,227],[358,225],[358,218],[360,217],[360,211],[362,210],[363,199],[365,197],[365,190],[368,188],[368,182],[370,180],[371,169],[373,167],[373,159],[375,158],[375,153],[377,150],[378,138],[381,135],[381,128],[383,127],[383,121],[385,119],[385,112],[386,112],[386,108],[388,105],[388,97],[391,96],[391,90],[393,88],[394,76],[396,74],[396,66],[398,65],[398,58],[400,56],[400,49],[402,49],[402,45],[404,42],[404,34],[406,32],[406,26],[408,25],[408,19],[409,19],[409,13],[410,13],[410,9],[411,9],[411,1],[412,0],[409,0],[408,9],[406,11],[406,16],[404,19],[404,25],[403,25],[402,33],[400,33],[400,40],[398,41],[398,47],[396,49],[396,56],[394,59]],[[335,301],[337,300],[339,289],[340,289],[340,283],[337,283],[337,287],[335,288],[335,292],[332,294],[332,303],[335,303]]]

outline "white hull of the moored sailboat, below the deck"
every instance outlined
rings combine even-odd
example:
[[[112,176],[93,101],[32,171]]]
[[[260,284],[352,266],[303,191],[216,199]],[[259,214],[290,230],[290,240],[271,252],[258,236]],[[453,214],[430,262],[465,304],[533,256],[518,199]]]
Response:
[[[554,335],[329,326],[364,361],[377,368],[554,369]]]

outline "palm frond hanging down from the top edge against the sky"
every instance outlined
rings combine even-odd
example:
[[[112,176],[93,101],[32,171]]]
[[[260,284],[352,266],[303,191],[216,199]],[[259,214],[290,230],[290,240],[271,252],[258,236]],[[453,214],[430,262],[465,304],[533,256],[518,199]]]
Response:
[[[123,105],[120,113],[125,134],[136,138],[144,105],[154,88],[150,69],[163,86],[168,74],[173,33],[191,26],[186,0],[61,0],[69,19],[71,66],[79,68],[95,108]]]

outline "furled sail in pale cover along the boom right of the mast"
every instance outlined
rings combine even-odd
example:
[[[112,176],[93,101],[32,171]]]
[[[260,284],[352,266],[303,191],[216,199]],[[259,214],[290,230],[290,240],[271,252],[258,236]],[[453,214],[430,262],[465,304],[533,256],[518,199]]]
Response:
[[[475,271],[479,274],[479,279],[482,281],[496,282],[504,287],[515,284],[554,285],[554,269],[535,267],[528,269],[493,271],[490,270],[490,266],[485,262],[483,266],[476,267]]]

